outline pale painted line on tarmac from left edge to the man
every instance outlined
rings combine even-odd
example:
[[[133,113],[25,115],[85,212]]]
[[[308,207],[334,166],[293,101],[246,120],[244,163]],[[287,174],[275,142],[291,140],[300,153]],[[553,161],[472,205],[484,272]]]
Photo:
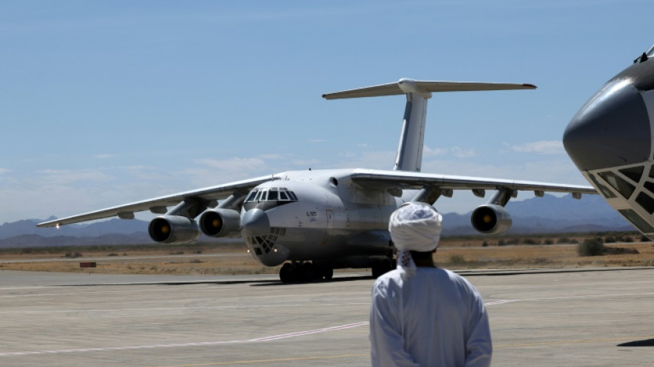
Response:
[[[6,352],[0,353],[0,357],[19,357],[25,355],[44,355],[44,354],[63,354],[63,353],[88,353],[88,352],[107,352],[116,350],[137,350],[137,349],[154,349],[154,348],[182,348],[187,346],[216,346],[222,344],[242,344],[242,343],[258,343],[269,342],[271,340],[286,339],[289,337],[299,337],[302,335],[311,335],[317,333],[326,333],[328,331],[339,331],[348,328],[356,328],[358,326],[368,325],[368,322],[355,322],[354,324],[345,324],[339,326],[331,326],[328,328],[319,328],[308,331],[298,331],[295,333],[273,335],[270,337],[258,337],[255,339],[244,340],[225,340],[222,342],[196,342],[196,343],[182,343],[182,344],[154,344],[145,346],[110,346],[105,348],[78,348],[78,349],[55,349],[55,350],[34,350],[31,352]]]

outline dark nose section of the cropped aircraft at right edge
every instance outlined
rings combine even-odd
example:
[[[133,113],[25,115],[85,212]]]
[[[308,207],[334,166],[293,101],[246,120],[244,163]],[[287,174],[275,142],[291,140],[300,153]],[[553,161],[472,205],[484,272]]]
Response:
[[[654,46],[613,76],[572,118],[563,145],[584,177],[654,240]]]

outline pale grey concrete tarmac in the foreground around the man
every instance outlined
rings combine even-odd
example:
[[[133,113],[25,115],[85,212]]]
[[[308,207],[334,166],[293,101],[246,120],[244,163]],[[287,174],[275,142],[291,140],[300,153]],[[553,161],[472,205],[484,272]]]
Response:
[[[654,268],[462,272],[494,366],[651,366]],[[370,366],[367,274],[0,273],[0,366]]]

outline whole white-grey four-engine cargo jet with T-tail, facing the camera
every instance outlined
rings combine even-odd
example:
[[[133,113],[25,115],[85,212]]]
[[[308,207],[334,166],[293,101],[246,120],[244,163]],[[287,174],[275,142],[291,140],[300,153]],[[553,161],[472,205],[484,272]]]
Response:
[[[137,211],[161,214],[151,220],[150,237],[184,244],[201,233],[213,238],[242,237],[249,253],[266,266],[283,264],[282,282],[330,279],[334,269],[371,268],[377,277],[390,270],[394,251],[388,218],[408,201],[434,205],[454,190],[472,190],[487,204],[474,209],[472,226],[481,233],[511,227],[505,205],[518,191],[570,192],[575,198],[593,187],[547,182],[421,173],[427,101],[432,92],[534,89],[529,84],[458,83],[401,79],[395,83],[325,94],[357,98],[405,94],[406,105],[394,170],[308,169],[230,182],[133,202],[37,224],[62,224],[111,216],[132,219]]]

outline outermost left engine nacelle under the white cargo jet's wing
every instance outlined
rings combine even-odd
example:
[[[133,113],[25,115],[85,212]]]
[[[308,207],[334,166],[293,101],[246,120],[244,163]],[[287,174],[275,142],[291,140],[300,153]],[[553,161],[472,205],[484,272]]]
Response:
[[[200,237],[198,223],[182,216],[160,216],[147,227],[150,238],[162,244],[187,244]]]

